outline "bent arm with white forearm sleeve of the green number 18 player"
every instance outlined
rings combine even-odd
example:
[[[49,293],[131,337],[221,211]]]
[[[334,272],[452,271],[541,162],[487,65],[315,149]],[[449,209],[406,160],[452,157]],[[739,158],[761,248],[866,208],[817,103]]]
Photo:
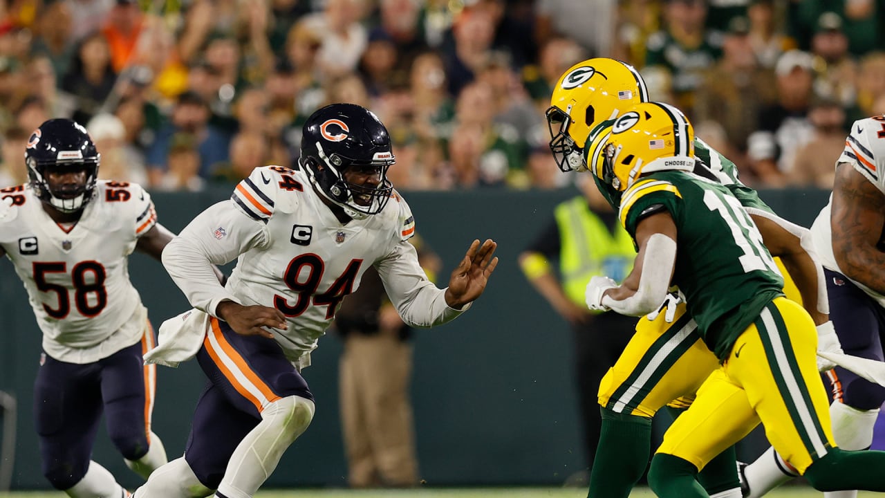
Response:
[[[633,271],[623,284],[604,290],[599,299],[603,307],[621,315],[643,316],[657,310],[664,302],[673,278],[676,223],[664,206],[650,206],[646,212],[650,214],[636,225],[635,241],[639,253]]]

